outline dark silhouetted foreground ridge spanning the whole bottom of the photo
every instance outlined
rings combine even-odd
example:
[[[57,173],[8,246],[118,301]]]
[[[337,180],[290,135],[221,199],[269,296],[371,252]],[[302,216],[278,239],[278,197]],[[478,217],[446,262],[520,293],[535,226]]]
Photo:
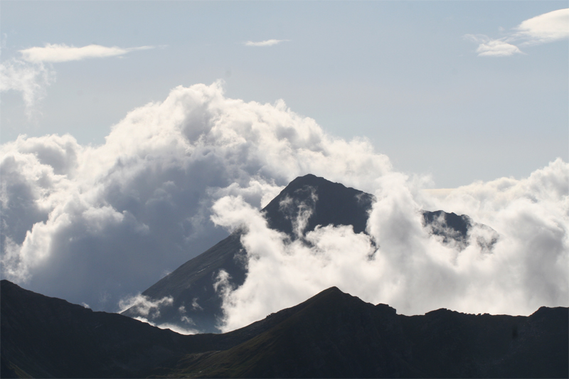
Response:
[[[403,316],[336,287],[184,336],[0,282],[1,378],[567,378],[569,309]]]

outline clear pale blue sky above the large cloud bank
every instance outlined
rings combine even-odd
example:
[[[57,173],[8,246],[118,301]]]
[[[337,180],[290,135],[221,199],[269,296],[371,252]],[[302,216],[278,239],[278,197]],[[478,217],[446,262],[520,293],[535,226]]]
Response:
[[[326,132],[367,137],[396,169],[435,186],[516,178],[568,160],[567,39],[479,56],[466,35],[503,38],[566,1],[3,1],[1,60],[46,43],[152,46],[46,63],[54,80],[28,116],[1,97],[1,142],[70,133],[102,144],[127,112],[177,85],[283,99]],[[247,41],[286,40],[273,46]]]

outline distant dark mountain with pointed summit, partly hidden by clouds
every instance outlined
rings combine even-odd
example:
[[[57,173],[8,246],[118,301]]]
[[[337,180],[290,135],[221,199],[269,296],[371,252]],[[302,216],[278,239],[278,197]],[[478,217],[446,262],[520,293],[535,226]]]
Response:
[[[290,182],[262,212],[270,228],[286,233],[292,240],[306,235],[318,225],[351,225],[355,233],[366,233],[373,201],[374,197],[369,193],[309,174]],[[442,243],[457,245],[459,249],[467,246],[468,233],[474,225],[487,228],[495,235],[490,242],[479,241],[479,244],[486,244],[487,249],[491,249],[498,237],[494,230],[474,223],[467,215],[442,210],[423,211],[423,221],[430,233],[442,237]],[[221,269],[230,274],[236,287],[245,282],[247,267],[240,232],[218,242],[142,292],[151,301],[171,297],[171,306],[163,306],[154,313],[148,313],[144,307],[132,306],[122,314],[144,317],[155,324],[218,333],[218,320],[223,316],[222,299],[213,284]]]

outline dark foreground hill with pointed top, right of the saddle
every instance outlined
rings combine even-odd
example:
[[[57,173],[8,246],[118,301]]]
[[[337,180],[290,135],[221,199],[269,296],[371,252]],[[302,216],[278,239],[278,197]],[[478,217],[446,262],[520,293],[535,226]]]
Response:
[[[408,317],[333,287],[291,310],[289,317],[249,341],[225,351],[188,355],[167,373],[196,378],[568,375],[567,308],[543,307],[528,317],[446,309]]]

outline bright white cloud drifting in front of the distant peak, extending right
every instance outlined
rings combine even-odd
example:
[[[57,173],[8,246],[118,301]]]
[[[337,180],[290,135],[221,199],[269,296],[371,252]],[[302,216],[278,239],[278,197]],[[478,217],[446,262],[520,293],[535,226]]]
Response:
[[[445,198],[417,191],[403,174],[376,181],[368,235],[349,227],[317,228],[304,239],[270,230],[238,196],[213,206],[213,220],[245,230],[248,276],[236,288],[222,274],[230,331],[337,286],[402,314],[445,307],[469,313],[531,314],[568,306],[569,165],[560,159],[529,178],[501,178],[457,188]],[[469,244],[448,245],[423,228],[423,208],[472,214]],[[374,243],[375,242],[375,243]]]

